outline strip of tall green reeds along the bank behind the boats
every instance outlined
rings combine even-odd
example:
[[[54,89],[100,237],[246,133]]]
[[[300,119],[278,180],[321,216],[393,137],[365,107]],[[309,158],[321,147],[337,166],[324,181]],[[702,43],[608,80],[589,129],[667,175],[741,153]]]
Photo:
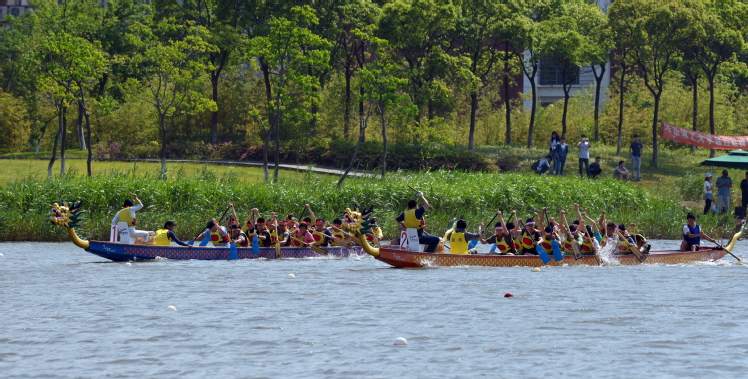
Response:
[[[433,209],[427,212],[426,230],[441,234],[453,216],[468,220],[474,230],[479,220],[488,222],[500,209],[519,211],[527,217],[547,206],[556,213],[582,204],[593,217],[605,209],[616,222],[636,222],[648,237],[680,238],[685,213],[676,201],[650,196],[645,190],[608,177],[597,181],[569,177],[537,176],[530,173],[465,173],[438,171],[393,173],[386,180],[349,178],[342,188],[335,187],[336,177],[297,173],[274,184],[251,179],[251,173],[236,175],[236,168],[217,173],[221,167],[203,166],[193,175],[174,172],[167,180],[158,179],[157,171],[142,164],[129,164],[127,171],[110,170],[88,178],[64,175],[51,180],[28,177],[10,181],[0,188],[0,240],[61,241],[67,235],[62,228],[49,223],[50,204],[84,201],[88,221],[79,229],[86,238],[107,239],[109,223],[120,209],[128,191],[137,192],[145,204],[138,214],[139,228],[155,230],[165,220],[175,220],[177,234],[189,238],[205,221],[221,213],[229,202],[237,206],[240,218],[257,207],[263,215],[298,214],[309,203],[317,217],[331,220],[354,203],[373,204],[388,237],[397,235],[394,218],[405,208],[413,192],[407,185],[422,190]],[[258,176],[259,169],[255,170]],[[729,218],[704,218],[705,230],[722,235],[732,228]],[[722,225],[720,225],[720,223]],[[719,230],[723,232],[720,233]]]

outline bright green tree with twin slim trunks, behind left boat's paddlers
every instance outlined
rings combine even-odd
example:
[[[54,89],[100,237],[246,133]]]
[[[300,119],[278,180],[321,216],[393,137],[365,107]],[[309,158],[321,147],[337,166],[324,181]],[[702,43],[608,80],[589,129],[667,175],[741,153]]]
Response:
[[[308,120],[311,117],[308,104],[316,96],[316,88],[319,80],[308,74],[309,65],[324,66],[330,59],[327,50],[330,43],[313,34],[308,25],[317,22],[314,10],[309,6],[294,7],[291,9],[289,18],[272,17],[268,21],[269,32],[266,36],[255,37],[249,42],[247,50],[248,58],[257,57],[266,65],[269,84],[269,93],[273,99],[268,104],[269,128],[265,133],[263,145],[263,168],[265,180],[269,180],[267,151],[270,132],[275,136],[275,173],[274,179],[278,179],[278,168],[280,163],[280,126],[284,122],[284,112],[288,111],[292,100],[296,100],[297,107],[294,116],[297,120]],[[306,54],[302,46],[315,46],[316,49],[309,50]],[[253,113],[256,117],[258,112]]]

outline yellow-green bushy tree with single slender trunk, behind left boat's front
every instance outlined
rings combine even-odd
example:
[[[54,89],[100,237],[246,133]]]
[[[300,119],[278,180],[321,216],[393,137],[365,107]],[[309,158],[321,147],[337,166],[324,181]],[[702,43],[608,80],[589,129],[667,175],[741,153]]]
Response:
[[[168,133],[174,117],[216,109],[216,103],[203,95],[201,84],[205,73],[213,69],[205,57],[218,48],[203,38],[208,31],[192,22],[184,25],[167,18],[141,32],[143,37],[132,35],[133,43],[143,51],[133,57],[133,63],[143,75],[146,101],[158,113],[161,174],[165,177]],[[174,39],[174,35],[181,38]]]

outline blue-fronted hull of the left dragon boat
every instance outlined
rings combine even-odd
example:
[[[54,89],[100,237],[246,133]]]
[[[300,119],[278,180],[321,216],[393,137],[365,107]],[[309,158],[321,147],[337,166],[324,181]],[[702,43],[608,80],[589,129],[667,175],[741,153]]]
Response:
[[[166,259],[196,259],[196,260],[228,260],[230,250],[228,247],[184,247],[184,246],[154,246],[154,245],[129,245],[104,241],[89,241],[88,249],[91,254],[113,261],[140,261],[153,260],[156,258]],[[347,249],[342,246],[325,247],[330,254],[328,256],[345,258],[365,254],[360,247]],[[257,254],[253,254],[252,248],[240,247],[236,249],[239,259],[276,259],[275,248],[263,247]],[[323,255],[306,247],[284,247],[281,249],[280,258],[317,258]]]

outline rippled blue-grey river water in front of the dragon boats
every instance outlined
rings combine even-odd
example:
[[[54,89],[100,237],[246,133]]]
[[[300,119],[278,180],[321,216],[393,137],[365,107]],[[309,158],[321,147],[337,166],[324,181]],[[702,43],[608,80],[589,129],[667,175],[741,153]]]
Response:
[[[730,256],[532,272],[393,269],[371,257],[127,265],[71,243],[0,252],[4,378],[748,372],[748,265]],[[408,345],[393,345],[398,337]]]

